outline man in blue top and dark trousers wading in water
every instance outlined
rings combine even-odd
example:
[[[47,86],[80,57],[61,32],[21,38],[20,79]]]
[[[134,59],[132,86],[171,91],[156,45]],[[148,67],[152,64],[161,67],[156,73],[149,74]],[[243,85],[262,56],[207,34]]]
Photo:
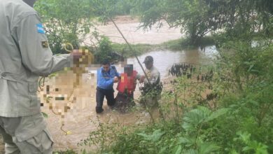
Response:
[[[108,60],[102,63],[102,67],[97,70],[97,92],[96,92],[96,112],[102,113],[102,105],[104,103],[104,96],[107,100],[107,105],[113,106],[115,99],[113,96],[113,83],[118,83],[120,73],[118,73],[115,66],[111,65]]]

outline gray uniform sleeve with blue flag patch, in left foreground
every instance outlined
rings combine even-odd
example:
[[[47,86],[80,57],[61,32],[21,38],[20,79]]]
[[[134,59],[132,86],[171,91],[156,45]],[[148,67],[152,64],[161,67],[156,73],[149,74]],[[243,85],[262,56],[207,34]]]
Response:
[[[38,15],[28,15],[12,30],[18,39],[22,64],[31,72],[39,76],[48,76],[69,66],[72,59],[69,54],[52,55]]]

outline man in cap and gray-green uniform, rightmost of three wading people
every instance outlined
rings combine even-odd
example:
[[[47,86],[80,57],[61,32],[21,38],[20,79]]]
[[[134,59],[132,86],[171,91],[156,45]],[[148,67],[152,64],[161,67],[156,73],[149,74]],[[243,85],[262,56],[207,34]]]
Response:
[[[142,99],[140,103],[147,102],[148,106],[153,106],[162,91],[162,85],[160,84],[160,72],[153,66],[153,57],[148,55],[144,59],[146,66],[146,76],[137,75],[139,83],[144,83],[144,87],[141,88]]]

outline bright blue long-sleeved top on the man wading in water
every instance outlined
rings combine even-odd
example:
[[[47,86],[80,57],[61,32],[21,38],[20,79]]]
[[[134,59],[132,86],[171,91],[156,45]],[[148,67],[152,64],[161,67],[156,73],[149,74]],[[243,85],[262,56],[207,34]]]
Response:
[[[120,76],[115,66],[111,66],[108,72],[105,72],[101,67],[97,70],[97,87],[104,90],[111,90],[113,88],[113,78]]]

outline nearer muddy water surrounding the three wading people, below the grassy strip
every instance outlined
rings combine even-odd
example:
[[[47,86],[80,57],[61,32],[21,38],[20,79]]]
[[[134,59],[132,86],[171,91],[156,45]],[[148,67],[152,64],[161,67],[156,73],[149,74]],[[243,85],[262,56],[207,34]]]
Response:
[[[179,62],[209,64],[216,53],[215,46],[209,46],[205,48],[205,50],[183,50],[177,52],[172,52],[169,50],[153,51],[139,56],[139,59],[141,62],[143,62],[144,57],[147,55],[153,56],[154,65],[160,71],[162,79],[164,79],[167,76],[168,69],[172,66],[172,64]],[[127,60],[127,63],[134,64],[134,69],[142,73],[141,67],[139,64],[137,64],[137,59],[130,58]],[[90,69],[94,70],[94,68]],[[118,69],[121,70],[121,68]],[[46,83],[47,85],[50,85],[50,90],[55,90],[49,94],[50,97],[52,97],[51,101],[53,101],[55,97],[64,97],[64,100],[55,100],[55,106],[58,104],[59,106],[62,104],[65,105],[66,102],[69,101],[68,96],[73,96],[75,98],[72,99],[73,104],[70,106],[71,109],[64,114],[63,118],[48,110],[47,103],[43,99],[44,93],[41,91],[41,101],[45,104],[42,111],[48,113],[49,115],[47,119],[48,127],[53,138],[55,139],[55,149],[80,149],[80,147],[77,146],[78,142],[80,142],[82,139],[86,139],[90,131],[97,129],[93,123],[90,123],[90,120],[97,121],[97,118],[99,118],[102,123],[119,123],[120,125],[139,125],[141,123],[148,123],[151,120],[146,111],[122,114],[109,109],[106,102],[104,102],[103,106],[104,113],[97,115],[97,113],[94,111],[96,106],[95,88],[97,82],[97,75],[95,73],[97,71],[91,72],[94,73],[83,74],[80,79],[80,85],[74,89],[72,86],[72,81],[75,78],[75,74],[73,74],[72,71],[59,73],[57,78],[48,80]],[[116,84],[114,86],[116,86]],[[139,93],[139,89],[136,88],[136,91],[134,92],[135,96],[139,96]],[[64,130],[71,131],[72,134],[64,135],[64,132],[60,130],[61,123],[64,123]]]

